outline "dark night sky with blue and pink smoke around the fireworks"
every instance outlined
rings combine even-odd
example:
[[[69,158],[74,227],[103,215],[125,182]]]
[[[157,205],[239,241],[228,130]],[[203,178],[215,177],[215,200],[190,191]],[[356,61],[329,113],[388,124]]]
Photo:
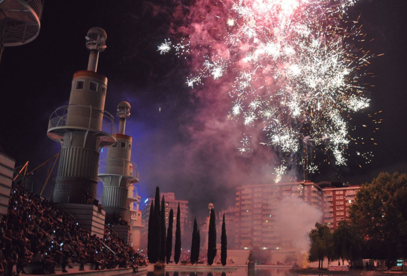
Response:
[[[137,188],[143,199],[160,186],[195,202],[190,204],[191,213],[201,213],[209,202],[217,209],[234,205],[234,187],[272,183],[274,152],[258,148],[243,156],[237,151],[239,130],[226,120],[231,103],[189,89],[188,63],[157,52],[157,46],[170,37],[174,10],[179,5],[187,9],[189,4],[46,1],[37,39],[5,48],[0,63],[0,146],[16,166],[29,160],[32,169],[59,152],[59,144],[46,136],[48,118],[68,104],[72,74],[86,70],[88,63],[85,35],[89,28],[100,26],[107,32],[107,49],[98,64],[98,73],[108,78],[105,110],[115,115],[122,100],[132,106],[126,134],[133,136],[132,161],[140,170]],[[356,47],[384,53],[370,61],[368,71],[375,76],[368,80],[374,85],[369,88],[370,107],[354,116],[352,124],[373,126],[373,119],[383,120],[376,133],[372,128],[354,133],[375,139],[377,145],[364,148],[374,154],[371,163],[359,167],[350,158],[348,167],[323,166],[315,181],[360,184],[381,171],[407,172],[407,1],[359,0],[349,14],[355,19],[361,14],[359,22],[368,40],[374,38]],[[382,112],[374,115],[378,111]],[[101,159],[105,154],[106,149]],[[36,191],[51,165],[35,176]],[[49,191],[47,187],[45,196]],[[98,192],[100,197],[101,189]]]

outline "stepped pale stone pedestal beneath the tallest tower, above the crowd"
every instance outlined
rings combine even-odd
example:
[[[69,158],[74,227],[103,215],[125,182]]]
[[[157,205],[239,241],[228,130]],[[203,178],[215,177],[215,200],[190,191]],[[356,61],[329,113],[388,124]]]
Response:
[[[73,215],[83,229],[90,230],[90,235],[96,234],[96,237],[103,238],[106,214],[104,210],[98,212],[98,207],[93,204],[60,203],[59,205]]]

